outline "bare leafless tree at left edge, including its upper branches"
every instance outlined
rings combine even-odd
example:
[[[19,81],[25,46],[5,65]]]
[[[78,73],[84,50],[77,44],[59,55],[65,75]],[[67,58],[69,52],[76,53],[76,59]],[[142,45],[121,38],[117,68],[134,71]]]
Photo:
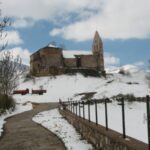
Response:
[[[3,17],[0,11],[0,41],[1,43],[7,37],[6,30],[10,26],[10,18]],[[11,52],[4,51],[7,42],[0,46],[0,94],[10,95],[17,86],[19,75],[25,70],[18,56],[14,58]]]

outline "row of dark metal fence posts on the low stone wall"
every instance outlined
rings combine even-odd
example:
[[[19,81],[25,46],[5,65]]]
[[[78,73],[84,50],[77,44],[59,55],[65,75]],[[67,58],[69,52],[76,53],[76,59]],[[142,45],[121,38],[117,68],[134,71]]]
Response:
[[[98,125],[98,108],[97,104],[99,101],[92,100],[92,101],[67,101],[67,102],[60,102],[63,109],[83,118],[87,119],[89,122],[91,122],[91,105],[94,105],[95,107],[95,124]],[[108,103],[110,103],[110,100],[108,98],[104,99],[104,108],[105,108],[105,129],[109,130],[109,124],[108,124]],[[87,105],[87,118],[85,117],[85,105]],[[121,106],[121,118],[122,118],[122,137],[126,138],[126,119],[125,119],[125,100],[124,98],[120,99],[119,105]],[[150,98],[149,96],[146,96],[146,108],[147,108],[147,127],[148,127],[148,149],[150,150]]]

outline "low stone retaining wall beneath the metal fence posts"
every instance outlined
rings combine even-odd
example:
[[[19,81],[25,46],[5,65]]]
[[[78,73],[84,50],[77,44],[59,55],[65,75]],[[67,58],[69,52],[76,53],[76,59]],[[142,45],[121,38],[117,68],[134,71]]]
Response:
[[[107,131],[105,127],[77,117],[69,111],[60,110],[60,113],[96,150],[148,150],[148,145],[141,141],[131,137],[123,139],[120,133],[110,129]]]

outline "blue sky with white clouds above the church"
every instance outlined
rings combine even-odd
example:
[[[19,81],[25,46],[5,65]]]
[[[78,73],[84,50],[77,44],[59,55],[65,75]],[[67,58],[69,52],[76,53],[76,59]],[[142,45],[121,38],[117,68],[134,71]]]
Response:
[[[149,0],[1,0],[11,19],[7,50],[29,56],[55,42],[66,50],[91,50],[94,33],[102,38],[106,66],[147,67],[150,59]]]

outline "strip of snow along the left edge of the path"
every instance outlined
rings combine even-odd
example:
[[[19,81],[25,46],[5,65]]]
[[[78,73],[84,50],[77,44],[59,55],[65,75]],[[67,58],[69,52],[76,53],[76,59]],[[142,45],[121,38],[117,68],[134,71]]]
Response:
[[[0,116],[0,136],[2,135],[3,132],[3,125],[6,123],[5,119],[8,117],[11,117],[13,115],[28,111],[32,109],[32,104],[30,102],[26,104],[16,104],[15,111],[7,111],[6,113],[2,114]]]

